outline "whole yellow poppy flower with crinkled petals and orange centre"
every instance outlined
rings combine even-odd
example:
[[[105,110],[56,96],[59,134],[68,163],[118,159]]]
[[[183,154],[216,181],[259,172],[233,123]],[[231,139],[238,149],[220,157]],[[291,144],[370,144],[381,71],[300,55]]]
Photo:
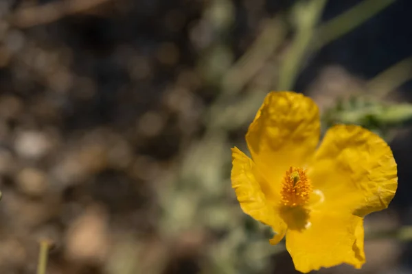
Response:
[[[356,125],[320,134],[319,110],[295,92],[271,92],[246,141],[252,158],[232,149],[232,187],[242,210],[286,235],[295,268],[365,262],[363,217],[387,208],[398,187],[387,143]]]

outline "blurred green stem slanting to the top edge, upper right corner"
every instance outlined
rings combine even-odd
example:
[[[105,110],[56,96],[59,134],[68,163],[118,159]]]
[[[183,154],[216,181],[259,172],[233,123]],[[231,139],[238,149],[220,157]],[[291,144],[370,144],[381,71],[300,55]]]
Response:
[[[334,17],[319,26],[312,50],[316,51],[328,43],[352,31],[396,0],[365,0],[354,8]]]

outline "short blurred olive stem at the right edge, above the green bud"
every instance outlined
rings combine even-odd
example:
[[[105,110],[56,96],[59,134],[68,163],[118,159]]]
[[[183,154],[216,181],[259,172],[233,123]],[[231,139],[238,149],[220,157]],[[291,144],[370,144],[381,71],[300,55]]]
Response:
[[[367,89],[382,99],[388,92],[412,79],[412,56],[389,67],[367,83]]]

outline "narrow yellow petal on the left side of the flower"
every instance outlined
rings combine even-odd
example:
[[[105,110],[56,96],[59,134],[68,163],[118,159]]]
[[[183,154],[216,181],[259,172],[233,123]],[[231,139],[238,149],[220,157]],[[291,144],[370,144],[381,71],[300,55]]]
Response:
[[[275,208],[266,201],[264,192],[260,187],[261,178],[255,175],[255,167],[251,158],[244,155],[237,147],[232,150],[231,185],[236,191],[236,197],[243,212],[249,214],[253,219],[266,225],[270,225],[277,235],[271,240],[275,245],[282,240],[286,232],[286,225],[275,212]]]

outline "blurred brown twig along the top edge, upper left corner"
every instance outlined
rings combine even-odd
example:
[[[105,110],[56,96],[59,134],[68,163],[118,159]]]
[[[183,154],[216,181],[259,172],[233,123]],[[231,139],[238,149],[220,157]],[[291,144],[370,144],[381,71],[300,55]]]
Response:
[[[17,10],[10,22],[16,27],[26,28],[58,21],[67,15],[84,12],[114,0],[66,0]]]

